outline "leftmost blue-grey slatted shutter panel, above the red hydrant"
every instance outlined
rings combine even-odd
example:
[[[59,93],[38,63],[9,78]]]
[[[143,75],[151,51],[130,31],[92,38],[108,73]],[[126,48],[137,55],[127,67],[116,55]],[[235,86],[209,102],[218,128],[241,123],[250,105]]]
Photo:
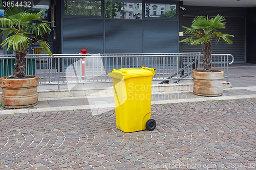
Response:
[[[63,17],[62,53],[79,54],[86,48],[90,54],[103,53],[103,19]]]

